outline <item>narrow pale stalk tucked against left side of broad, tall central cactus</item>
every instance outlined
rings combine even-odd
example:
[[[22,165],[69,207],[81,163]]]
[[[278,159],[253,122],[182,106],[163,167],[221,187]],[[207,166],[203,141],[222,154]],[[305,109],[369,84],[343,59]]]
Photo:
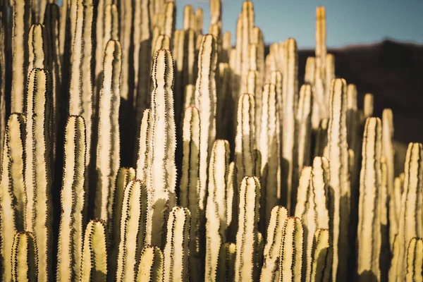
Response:
[[[140,136],[138,141],[137,179],[147,181],[147,171],[150,165],[149,150],[152,133],[152,110],[146,109],[142,115]]]

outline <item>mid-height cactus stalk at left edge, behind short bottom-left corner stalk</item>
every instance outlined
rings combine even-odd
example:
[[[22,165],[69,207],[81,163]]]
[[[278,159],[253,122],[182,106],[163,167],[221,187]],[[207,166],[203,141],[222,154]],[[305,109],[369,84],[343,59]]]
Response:
[[[25,116],[11,114],[4,135],[0,182],[0,237],[1,272],[4,281],[12,278],[13,234],[24,230],[25,183]]]

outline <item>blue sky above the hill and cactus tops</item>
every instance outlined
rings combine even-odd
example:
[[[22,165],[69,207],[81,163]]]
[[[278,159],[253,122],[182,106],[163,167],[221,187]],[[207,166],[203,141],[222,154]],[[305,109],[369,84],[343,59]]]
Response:
[[[255,24],[266,43],[288,37],[298,47],[314,47],[315,8],[326,7],[327,44],[376,42],[386,37],[423,44],[423,0],[252,0]],[[233,32],[243,0],[223,0],[223,30]],[[208,30],[208,0],[176,0],[177,28],[182,27],[183,6],[204,8],[204,31]]]

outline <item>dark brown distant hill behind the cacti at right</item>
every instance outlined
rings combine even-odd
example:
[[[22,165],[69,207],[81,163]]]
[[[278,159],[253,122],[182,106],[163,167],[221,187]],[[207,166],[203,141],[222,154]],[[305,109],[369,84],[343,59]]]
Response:
[[[375,116],[393,110],[395,140],[423,142],[423,44],[386,39],[328,52],[335,55],[336,75],[357,85],[360,108],[364,94],[374,94]],[[308,56],[314,50],[299,51],[300,85]]]

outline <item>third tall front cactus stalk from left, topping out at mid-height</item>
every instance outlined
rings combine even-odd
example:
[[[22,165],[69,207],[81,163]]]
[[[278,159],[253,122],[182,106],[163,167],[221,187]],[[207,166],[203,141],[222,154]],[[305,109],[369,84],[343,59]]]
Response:
[[[85,168],[87,139],[82,116],[70,116],[66,124],[61,220],[59,227],[58,281],[78,281],[84,231]]]

